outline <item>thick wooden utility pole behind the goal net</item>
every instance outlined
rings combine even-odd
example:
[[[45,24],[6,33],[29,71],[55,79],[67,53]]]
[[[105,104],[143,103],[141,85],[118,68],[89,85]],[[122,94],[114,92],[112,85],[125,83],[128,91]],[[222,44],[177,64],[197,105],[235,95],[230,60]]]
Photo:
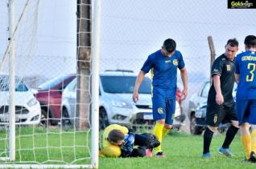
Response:
[[[89,128],[91,103],[91,0],[77,0],[76,128]]]

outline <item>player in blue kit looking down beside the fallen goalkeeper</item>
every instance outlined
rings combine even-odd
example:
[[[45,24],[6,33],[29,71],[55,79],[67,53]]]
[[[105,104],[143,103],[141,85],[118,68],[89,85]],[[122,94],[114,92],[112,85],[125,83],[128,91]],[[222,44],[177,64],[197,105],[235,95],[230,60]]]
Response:
[[[161,50],[148,56],[135,82],[133,100],[134,103],[137,103],[140,84],[145,74],[151,70],[153,119],[156,121],[154,134],[161,143],[159,147],[155,148],[157,157],[165,157],[161,147],[162,139],[172,127],[177,89],[177,68],[180,70],[184,86],[181,97],[185,99],[188,95],[188,74],[182,54],[176,50],[176,43],[171,38],[167,38],[163,42]]]

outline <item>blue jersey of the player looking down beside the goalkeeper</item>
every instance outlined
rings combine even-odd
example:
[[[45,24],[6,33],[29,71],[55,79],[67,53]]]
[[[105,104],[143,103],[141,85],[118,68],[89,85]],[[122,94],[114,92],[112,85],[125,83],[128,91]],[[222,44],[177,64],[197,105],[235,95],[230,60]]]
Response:
[[[175,54],[167,57],[162,54],[161,50],[157,50],[148,56],[141,70],[145,73],[151,70],[154,94],[175,99],[177,68],[182,69],[184,66],[184,60],[180,51],[175,50]]]

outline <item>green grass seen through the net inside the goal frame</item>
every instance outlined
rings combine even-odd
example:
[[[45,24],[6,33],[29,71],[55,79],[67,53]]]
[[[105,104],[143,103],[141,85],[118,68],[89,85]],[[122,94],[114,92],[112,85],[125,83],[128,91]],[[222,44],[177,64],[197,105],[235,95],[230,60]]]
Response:
[[[16,162],[39,163],[90,163],[90,133],[88,131],[73,132],[73,129],[60,132],[60,129],[42,127],[20,127],[16,129]],[[8,142],[6,131],[0,131],[0,156],[8,156],[5,152]],[[34,147],[34,148],[33,148]],[[60,148],[61,147],[61,148]],[[53,161],[52,161],[53,160]],[[0,162],[1,163],[1,162]]]

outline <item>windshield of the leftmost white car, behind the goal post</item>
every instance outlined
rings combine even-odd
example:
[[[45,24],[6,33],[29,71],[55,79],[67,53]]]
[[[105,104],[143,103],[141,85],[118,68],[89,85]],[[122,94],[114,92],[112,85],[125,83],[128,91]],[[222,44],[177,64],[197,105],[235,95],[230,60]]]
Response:
[[[7,76],[0,77],[0,91],[9,91],[10,78]],[[15,78],[15,91],[28,91],[27,86],[20,78]]]

